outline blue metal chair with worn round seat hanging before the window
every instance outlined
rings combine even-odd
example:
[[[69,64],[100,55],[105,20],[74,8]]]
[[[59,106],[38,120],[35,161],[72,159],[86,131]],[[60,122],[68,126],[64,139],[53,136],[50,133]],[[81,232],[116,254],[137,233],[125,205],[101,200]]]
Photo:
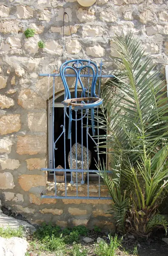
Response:
[[[71,77],[71,74],[67,74],[67,70],[73,70],[76,76],[75,80],[75,98],[71,99],[71,92],[68,87],[66,77]],[[84,77],[88,78],[87,88],[83,85],[81,80],[82,71],[87,72]],[[70,60],[63,63],[60,67],[60,76],[65,88],[65,97],[63,101],[64,106],[69,108],[69,125],[68,125],[68,139],[71,138],[72,127],[72,110],[89,110],[91,111],[91,128],[92,134],[95,135],[94,129],[94,108],[102,104],[103,100],[96,94],[96,83],[98,78],[98,67],[90,60]],[[91,86],[90,86],[91,79]],[[80,86],[79,86],[80,85]],[[81,97],[77,97],[79,88],[82,88]],[[87,95],[87,97],[86,97]]]

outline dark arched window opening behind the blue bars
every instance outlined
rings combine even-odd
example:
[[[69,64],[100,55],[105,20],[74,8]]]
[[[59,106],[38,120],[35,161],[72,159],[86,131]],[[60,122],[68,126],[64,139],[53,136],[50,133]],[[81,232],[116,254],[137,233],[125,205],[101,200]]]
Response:
[[[74,89],[71,89],[71,97],[75,98],[74,96]],[[78,93],[80,94],[82,90],[79,90]],[[64,92],[60,92],[55,96],[55,101],[54,101],[54,141],[57,140],[57,138],[60,136],[62,133],[63,129],[62,126],[64,124],[64,106],[62,104],[64,100]],[[54,154],[55,154],[55,165],[53,161],[53,138],[52,138],[52,101],[53,99],[50,100],[50,104],[48,102],[48,168],[55,169],[58,166],[62,166],[63,169],[65,169],[65,161],[66,161],[66,168],[70,168],[68,164],[68,154],[70,152],[70,143],[68,140],[68,116],[65,116],[65,143],[66,143],[66,148],[64,151],[64,137],[61,136],[59,141],[56,143],[56,148]],[[68,108],[67,108],[68,112]],[[101,115],[101,109],[99,109],[99,115]],[[81,111],[77,111],[77,119],[80,119],[81,117]],[[75,119],[75,112],[73,112],[72,118]],[[72,121],[72,128],[71,128],[71,145],[74,145],[76,143],[76,133],[77,133],[77,143],[83,144],[83,146],[86,148],[87,147],[87,133],[86,133],[86,122],[87,122],[87,117],[85,116],[83,118],[83,131],[81,130],[81,125],[80,122],[81,120],[77,121],[77,131],[75,129],[75,121]],[[91,127],[91,119],[88,119],[88,126]],[[97,122],[95,121],[95,127],[97,127]],[[82,138],[82,132],[83,132],[83,138]],[[99,135],[105,135],[105,130],[99,129]],[[98,158],[101,163],[106,163],[106,154],[99,154],[97,155],[97,148],[96,148],[96,136],[97,136],[97,129],[96,129],[96,134],[95,134],[95,139],[93,140],[90,136],[88,136],[88,150],[91,152],[91,164],[89,169],[90,170],[97,170],[97,163],[98,163]],[[104,149],[101,149],[100,151],[103,151]],[[66,160],[65,157],[66,156]],[[53,180],[53,174],[54,172],[50,171],[48,180],[52,181]],[[67,182],[70,182],[71,177],[70,177],[70,172],[66,173],[67,177]],[[94,180],[94,177],[97,177],[96,173],[89,173],[89,178],[91,177],[92,180]],[[86,177],[87,181],[87,177]]]

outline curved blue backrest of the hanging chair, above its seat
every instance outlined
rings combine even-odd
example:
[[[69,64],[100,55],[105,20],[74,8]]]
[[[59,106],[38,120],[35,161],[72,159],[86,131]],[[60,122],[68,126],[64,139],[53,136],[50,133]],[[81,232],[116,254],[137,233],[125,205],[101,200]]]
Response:
[[[73,75],[68,74],[67,73],[68,70],[73,70],[74,74]],[[98,67],[94,62],[90,60],[82,60],[82,59],[66,61],[60,67],[60,76],[65,88],[65,97],[64,97],[65,100],[71,99],[71,92],[69,90],[66,77],[72,77],[72,76],[75,76],[75,88],[74,88],[75,98],[79,98],[77,97],[77,90],[79,88],[79,85],[82,88],[81,98],[88,97],[88,96],[97,97],[95,90],[96,90],[96,82],[98,77]],[[87,88],[83,84],[81,77],[86,77],[88,79]],[[87,96],[86,96],[86,91],[87,91]]]

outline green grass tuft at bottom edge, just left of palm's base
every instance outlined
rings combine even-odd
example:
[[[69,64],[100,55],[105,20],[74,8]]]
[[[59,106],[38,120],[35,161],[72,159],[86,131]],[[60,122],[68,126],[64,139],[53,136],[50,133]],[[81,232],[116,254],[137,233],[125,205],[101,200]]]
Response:
[[[110,244],[100,242],[100,244],[96,245],[95,253],[97,256],[114,256],[118,247],[121,246],[121,240],[118,239],[117,235],[114,238],[111,235],[108,235],[110,239]]]

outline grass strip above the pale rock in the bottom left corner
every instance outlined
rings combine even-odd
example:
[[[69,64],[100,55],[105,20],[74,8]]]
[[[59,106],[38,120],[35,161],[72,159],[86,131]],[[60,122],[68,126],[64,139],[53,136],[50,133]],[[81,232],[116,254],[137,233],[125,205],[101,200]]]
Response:
[[[11,238],[12,236],[22,238],[24,236],[24,230],[22,226],[20,226],[18,229],[11,227],[4,229],[3,227],[0,227],[0,236],[3,238]]]

